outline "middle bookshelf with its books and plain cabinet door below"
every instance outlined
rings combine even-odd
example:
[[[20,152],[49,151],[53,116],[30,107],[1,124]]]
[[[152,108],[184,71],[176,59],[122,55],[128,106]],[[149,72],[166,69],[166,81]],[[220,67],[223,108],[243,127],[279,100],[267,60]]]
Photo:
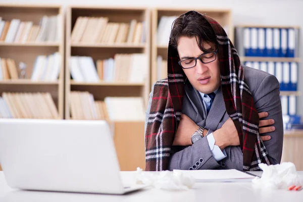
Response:
[[[95,26],[92,26],[93,20],[96,19],[100,24],[104,23],[104,21],[106,23],[100,25],[95,22]],[[86,25],[83,25],[83,22]],[[133,22],[136,22],[136,28],[131,28]],[[145,25],[143,25],[144,23]],[[117,24],[119,28],[116,27],[116,31],[117,29],[119,31],[116,33],[113,27],[109,27],[117,26]],[[81,27],[80,25],[82,28],[79,28]],[[124,30],[125,26],[127,26],[127,31]],[[142,27],[137,28],[138,26]],[[150,92],[149,26],[150,11],[145,8],[70,6],[66,10],[65,119],[91,119],[88,118],[87,113],[84,113],[83,116],[83,113],[79,113],[79,110],[76,110],[77,107],[75,105],[77,105],[77,102],[79,103],[77,96],[81,95],[81,93],[82,95],[90,96],[91,103],[92,99],[94,100],[97,113],[102,107],[96,103],[104,102],[101,104],[104,106],[103,109],[105,109],[103,112],[104,116],[97,117],[103,117],[111,126],[120,168],[123,171],[135,170],[138,166],[144,168],[144,120],[113,120],[109,116],[110,112],[107,112],[109,106],[107,106],[106,102],[109,100],[108,97],[141,97],[143,98],[143,105],[146,105],[144,107],[147,107]],[[91,27],[94,29],[89,32],[88,30]],[[107,29],[111,30],[111,32],[108,32]],[[133,36],[130,34],[131,29],[136,30],[132,33]],[[141,30],[141,35],[137,34],[137,30]],[[106,34],[107,32],[110,34]],[[91,33],[94,34],[92,35]],[[115,37],[110,38],[109,35],[115,35]],[[140,40],[137,40],[138,38]],[[133,55],[139,54],[144,54],[142,58],[145,59],[145,62],[142,62],[142,64],[144,63],[145,66],[137,65],[137,67],[145,67],[146,77],[143,80],[128,79],[134,72],[131,68],[134,68],[135,65],[125,66],[124,64],[127,64],[127,62],[121,60],[119,62],[120,66],[118,66],[118,58],[125,55],[131,58]],[[90,61],[90,66],[93,67],[91,72],[93,72],[94,76],[90,74],[89,78],[85,76],[85,72],[81,72],[82,69],[89,68],[89,66],[81,65],[83,63],[81,60],[85,59],[85,57],[89,58],[86,58],[86,60],[87,62]],[[131,61],[136,60],[135,56],[130,58],[128,59]],[[123,72],[123,74],[119,74],[119,79],[117,77],[115,79],[106,78],[106,61],[110,59],[114,59],[115,65],[110,66],[110,68],[115,69],[115,74],[119,74],[117,73],[118,67],[120,68],[119,71]],[[101,70],[98,65],[99,61],[102,61],[103,64]],[[76,66],[80,70],[78,74],[75,73],[74,67]],[[109,68],[109,65],[107,68]],[[126,68],[130,68],[128,71],[133,72],[127,72]],[[140,70],[136,69],[136,71]],[[100,74],[100,72],[104,74]],[[79,74],[82,74],[83,78]],[[136,75],[136,77],[139,76]],[[83,103],[83,99],[81,103]],[[94,108],[93,105],[90,108]],[[136,146],[133,146],[134,144]]]

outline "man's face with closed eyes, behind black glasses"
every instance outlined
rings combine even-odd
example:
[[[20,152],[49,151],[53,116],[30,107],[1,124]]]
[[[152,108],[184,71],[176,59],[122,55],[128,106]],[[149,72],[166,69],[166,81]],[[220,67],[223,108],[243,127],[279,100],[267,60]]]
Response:
[[[208,52],[213,52],[217,49],[217,47],[212,49],[211,45],[206,42],[203,47],[208,49]],[[201,54],[204,54],[204,52],[200,50],[195,37],[189,38],[185,36],[179,38],[178,53],[181,61],[188,58],[196,58]],[[215,61],[208,64],[203,64],[201,61],[197,60],[195,67],[183,69],[183,71],[191,85],[199,92],[211,93],[220,86],[221,77],[218,56]]]

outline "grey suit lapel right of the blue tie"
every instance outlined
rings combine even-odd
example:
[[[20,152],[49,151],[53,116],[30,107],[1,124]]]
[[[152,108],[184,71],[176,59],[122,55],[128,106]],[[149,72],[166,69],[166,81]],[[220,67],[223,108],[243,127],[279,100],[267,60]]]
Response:
[[[206,128],[213,131],[217,130],[217,127],[226,112],[224,98],[221,87],[219,88],[214,103],[210,109],[209,115],[206,118]]]

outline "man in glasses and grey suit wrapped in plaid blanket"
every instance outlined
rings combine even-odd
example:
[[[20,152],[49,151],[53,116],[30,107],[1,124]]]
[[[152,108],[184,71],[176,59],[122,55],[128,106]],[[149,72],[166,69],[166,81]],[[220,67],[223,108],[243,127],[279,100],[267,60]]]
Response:
[[[273,75],[240,64],[216,21],[195,11],[181,15],[171,31],[168,79],[150,93],[145,170],[253,171],[280,163],[279,93]]]

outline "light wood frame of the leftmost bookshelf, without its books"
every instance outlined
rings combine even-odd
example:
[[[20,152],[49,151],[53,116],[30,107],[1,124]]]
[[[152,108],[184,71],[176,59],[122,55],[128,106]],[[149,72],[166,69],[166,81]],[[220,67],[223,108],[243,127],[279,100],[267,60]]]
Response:
[[[60,55],[60,72],[57,81],[31,81],[30,79],[14,79],[0,81],[0,96],[3,92],[47,92],[59,112],[59,118],[64,118],[64,12],[61,5],[37,5],[37,4],[0,4],[2,20],[12,21],[19,19],[21,22],[32,22],[39,25],[43,16],[57,16],[58,40],[42,42],[0,42],[0,57],[13,59],[18,68],[22,62],[26,64],[26,77],[30,78],[35,60],[39,55]],[[59,33],[60,31],[60,33]],[[18,69],[19,70],[19,69]]]

